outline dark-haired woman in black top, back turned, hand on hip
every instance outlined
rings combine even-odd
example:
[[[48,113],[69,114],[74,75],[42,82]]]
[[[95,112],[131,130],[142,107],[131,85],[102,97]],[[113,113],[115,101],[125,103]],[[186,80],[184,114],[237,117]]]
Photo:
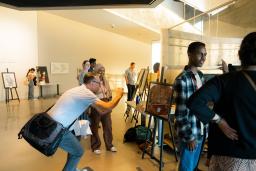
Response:
[[[242,71],[208,81],[187,104],[203,123],[215,120],[210,171],[256,170],[256,32],[243,39],[239,58]],[[210,101],[213,110],[207,106]]]

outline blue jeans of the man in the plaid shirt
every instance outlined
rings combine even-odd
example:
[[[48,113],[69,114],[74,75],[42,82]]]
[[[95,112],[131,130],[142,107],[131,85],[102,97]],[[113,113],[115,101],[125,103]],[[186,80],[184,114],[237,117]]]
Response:
[[[180,163],[179,171],[194,171],[200,159],[203,139],[198,140],[193,151],[189,151],[187,143],[180,143]]]

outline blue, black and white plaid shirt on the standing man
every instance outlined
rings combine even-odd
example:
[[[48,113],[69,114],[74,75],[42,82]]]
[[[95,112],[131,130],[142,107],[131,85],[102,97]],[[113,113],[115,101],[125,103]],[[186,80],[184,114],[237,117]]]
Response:
[[[203,73],[198,71],[198,75],[204,83]],[[199,140],[203,137],[201,134],[200,121],[187,108],[186,103],[189,97],[197,90],[195,74],[188,66],[175,79],[174,83],[174,101],[176,103],[175,119],[179,138],[184,142]],[[207,125],[205,125],[207,128]]]

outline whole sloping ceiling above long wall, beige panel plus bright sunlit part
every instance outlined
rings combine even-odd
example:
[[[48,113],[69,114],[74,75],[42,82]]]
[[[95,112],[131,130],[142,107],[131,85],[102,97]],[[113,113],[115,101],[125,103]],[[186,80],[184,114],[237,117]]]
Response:
[[[151,8],[65,9],[44,10],[44,12],[145,43],[152,43],[152,41],[160,40],[162,28],[169,28],[183,21],[175,14],[182,11],[181,4],[183,3],[165,0],[160,5]],[[172,12],[170,7],[175,8],[176,11]]]

